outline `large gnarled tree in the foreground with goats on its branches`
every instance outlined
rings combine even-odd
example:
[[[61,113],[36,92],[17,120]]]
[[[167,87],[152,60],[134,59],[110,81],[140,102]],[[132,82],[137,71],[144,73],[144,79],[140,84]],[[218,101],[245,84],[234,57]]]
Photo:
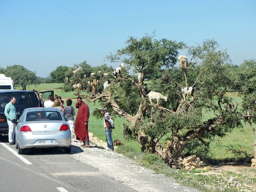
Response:
[[[135,76],[123,74],[109,91],[88,100],[98,100],[111,108],[114,114],[124,117],[131,126],[124,125],[127,137],[135,138],[143,152],[156,153],[171,165],[192,140],[209,146],[211,137],[224,136],[240,125],[238,111],[231,97],[229,56],[217,51],[215,40],[188,47],[183,42],[156,40],[146,35],[141,39],[129,37],[127,46],[107,56],[111,62],[126,63],[127,70],[143,72],[150,83],[138,84]],[[187,49],[188,66],[174,67],[180,49]],[[184,100],[177,86],[195,88],[194,100]],[[159,92],[168,97],[159,106],[149,104],[147,91]],[[94,111],[94,114],[97,114]],[[207,118],[205,114],[211,114]]]

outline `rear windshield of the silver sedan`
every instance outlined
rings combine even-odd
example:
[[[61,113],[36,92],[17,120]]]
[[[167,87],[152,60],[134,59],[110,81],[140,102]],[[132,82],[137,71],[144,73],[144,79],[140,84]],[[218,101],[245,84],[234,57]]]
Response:
[[[27,113],[26,121],[62,121],[58,111],[34,111]]]

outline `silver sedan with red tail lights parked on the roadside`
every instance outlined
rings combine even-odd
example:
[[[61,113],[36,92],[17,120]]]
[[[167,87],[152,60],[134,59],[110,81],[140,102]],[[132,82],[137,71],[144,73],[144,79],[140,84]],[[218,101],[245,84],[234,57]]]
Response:
[[[68,119],[56,107],[25,109],[15,128],[15,147],[18,154],[28,148],[63,147],[71,152],[71,132]]]

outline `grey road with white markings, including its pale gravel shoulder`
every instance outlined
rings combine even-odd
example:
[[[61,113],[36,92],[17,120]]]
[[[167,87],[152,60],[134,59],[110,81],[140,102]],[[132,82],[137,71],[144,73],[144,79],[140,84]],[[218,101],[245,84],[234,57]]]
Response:
[[[8,135],[0,136],[0,191],[199,191],[116,152],[97,145],[82,149],[81,144],[72,142],[71,154],[50,148],[28,149],[18,155],[15,146],[8,144]]]

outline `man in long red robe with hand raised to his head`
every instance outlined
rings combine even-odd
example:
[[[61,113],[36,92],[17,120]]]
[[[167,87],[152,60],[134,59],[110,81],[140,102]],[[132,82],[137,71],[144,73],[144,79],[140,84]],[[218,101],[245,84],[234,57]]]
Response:
[[[82,101],[82,97],[77,97],[77,103],[75,107],[78,108],[75,119],[75,135],[76,140],[83,141],[83,148],[90,147],[89,133],[88,133],[88,121],[90,116],[89,106]]]

